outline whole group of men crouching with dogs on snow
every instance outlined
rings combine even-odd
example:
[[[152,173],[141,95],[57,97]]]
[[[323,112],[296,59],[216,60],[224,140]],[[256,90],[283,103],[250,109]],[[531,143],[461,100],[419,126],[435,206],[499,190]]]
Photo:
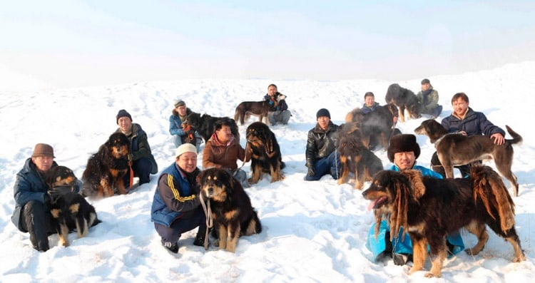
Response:
[[[429,85],[429,86],[427,86]],[[432,90],[429,80],[422,81],[423,101],[438,101],[438,93]],[[420,93],[419,93],[420,94]],[[276,101],[280,95],[275,85],[268,87],[266,100]],[[492,124],[481,112],[469,107],[469,98],[465,93],[456,93],[452,98],[452,115],[442,119],[442,125],[450,133],[463,133],[464,135],[489,135],[494,143],[504,143],[504,130]],[[432,103],[432,102],[431,102]],[[291,116],[286,103],[276,103],[272,111],[272,125],[286,124]],[[275,105],[275,104],[274,104]],[[373,111],[379,104],[374,101],[373,93],[365,94],[365,103],[362,110]],[[442,111],[442,106],[429,110],[429,115],[436,117]],[[206,223],[205,214],[200,206],[199,188],[196,181],[200,168],[197,166],[200,136],[194,134],[195,145],[184,143],[181,138],[189,135],[182,130],[181,123],[190,112],[184,101],[177,101],[170,117],[170,133],[175,135],[175,160],[165,168],[158,177],[158,185],[153,196],[151,207],[151,221],[161,243],[170,252],[178,252],[178,240],[183,232],[198,228],[193,245],[202,246],[205,242]],[[333,179],[340,177],[340,154],[337,152],[338,125],[332,123],[329,110],[321,108],[316,113],[317,123],[307,133],[305,159],[307,173],[304,180],[320,180],[324,175],[331,175]],[[158,173],[158,165],[151,153],[148,139],[141,125],[132,123],[132,117],[126,110],[119,110],[116,115],[118,129],[116,132],[124,133],[130,140],[132,169],[139,177],[140,185],[150,181],[150,175]],[[436,153],[432,156],[432,170],[417,165],[420,154],[416,137],[412,134],[394,135],[387,148],[387,157],[393,165],[388,170],[403,171],[415,169],[423,175],[442,178],[444,170],[440,165]],[[230,131],[230,119],[221,120],[215,127],[215,132],[206,142],[203,149],[203,168],[223,168],[229,170],[244,187],[248,187],[247,173],[238,168],[237,161],[244,163],[250,160],[250,152],[245,150],[239,140]],[[33,247],[39,251],[49,249],[48,236],[54,234],[51,213],[47,202],[49,195],[44,175],[57,166],[54,161],[54,149],[51,145],[38,143],[35,145],[31,158],[28,158],[24,167],[17,173],[14,185],[14,198],[16,207],[11,217],[12,222],[21,232],[29,232]],[[469,173],[469,165],[458,167],[462,176]],[[128,175],[128,174],[127,174]],[[81,184],[76,186],[79,191]],[[397,235],[389,240],[389,227],[384,220],[379,227],[379,237],[374,235],[374,227],[370,229],[367,247],[374,254],[374,259],[384,255],[391,255],[395,264],[404,264],[411,258],[412,244],[410,237]],[[449,235],[448,245],[450,252],[455,254],[464,248],[462,238],[458,233]]]

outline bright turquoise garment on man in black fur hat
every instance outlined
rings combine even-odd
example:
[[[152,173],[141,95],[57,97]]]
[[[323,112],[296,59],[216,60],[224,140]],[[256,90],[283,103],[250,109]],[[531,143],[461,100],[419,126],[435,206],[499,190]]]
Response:
[[[429,177],[436,177],[438,179],[442,179],[442,175],[439,173],[434,172],[433,170],[430,170],[429,168],[424,168],[419,165],[414,165],[412,169],[419,170],[422,172],[422,175],[429,176]],[[389,168],[389,170],[394,170],[399,172],[399,168],[397,168],[396,165],[392,165],[392,167]],[[373,254],[374,260],[377,260],[378,256],[384,252],[387,249],[387,242],[390,238],[387,237],[387,232],[390,232],[390,227],[388,225],[387,220],[382,220],[379,225],[379,234],[377,235],[377,239],[375,238],[375,225],[374,223],[372,227],[370,228],[370,232],[368,232],[368,238],[366,241],[366,247],[367,249],[370,249],[370,251]],[[412,241],[408,234],[405,234],[405,237],[402,237],[404,233],[403,228],[399,230],[399,235],[397,237],[392,238],[392,252],[396,254],[412,254]],[[402,241],[402,239],[404,239]],[[457,254],[458,252],[461,252],[464,250],[464,242],[462,241],[462,237],[459,234],[459,232],[452,233],[451,235],[448,235],[446,237],[446,240],[454,246],[453,248],[453,254]]]

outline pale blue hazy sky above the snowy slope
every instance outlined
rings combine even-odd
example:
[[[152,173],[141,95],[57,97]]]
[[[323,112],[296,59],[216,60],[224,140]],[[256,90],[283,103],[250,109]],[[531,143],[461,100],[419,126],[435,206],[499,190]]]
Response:
[[[0,66],[58,87],[398,81],[535,59],[535,1],[4,2]]]

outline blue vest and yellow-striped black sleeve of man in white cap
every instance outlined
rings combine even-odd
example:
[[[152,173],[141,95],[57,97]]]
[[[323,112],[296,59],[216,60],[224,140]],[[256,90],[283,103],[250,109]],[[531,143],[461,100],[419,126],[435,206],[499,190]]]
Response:
[[[196,168],[194,174],[198,175],[199,172]],[[189,217],[190,212],[198,211],[196,208],[200,205],[200,200],[197,193],[178,166],[171,164],[158,177],[151,207],[151,221],[170,227],[177,218]]]

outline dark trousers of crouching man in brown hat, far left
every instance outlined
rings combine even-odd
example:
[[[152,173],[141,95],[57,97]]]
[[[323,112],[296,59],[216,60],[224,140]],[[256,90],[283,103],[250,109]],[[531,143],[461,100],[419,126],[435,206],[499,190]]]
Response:
[[[56,232],[50,212],[45,210],[43,202],[30,200],[22,207],[21,213],[22,229],[30,233],[30,242],[41,252],[49,249],[49,235]]]

